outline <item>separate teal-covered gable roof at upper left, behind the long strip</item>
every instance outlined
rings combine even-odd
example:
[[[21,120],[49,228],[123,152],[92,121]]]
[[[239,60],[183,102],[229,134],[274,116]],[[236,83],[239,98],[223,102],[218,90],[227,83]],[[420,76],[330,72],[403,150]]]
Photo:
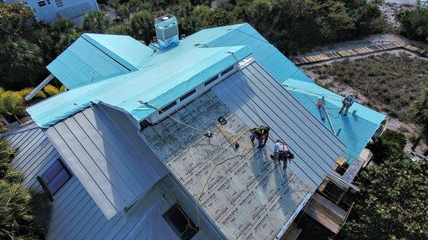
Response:
[[[153,50],[130,36],[83,33],[47,68],[68,89],[138,71]]]

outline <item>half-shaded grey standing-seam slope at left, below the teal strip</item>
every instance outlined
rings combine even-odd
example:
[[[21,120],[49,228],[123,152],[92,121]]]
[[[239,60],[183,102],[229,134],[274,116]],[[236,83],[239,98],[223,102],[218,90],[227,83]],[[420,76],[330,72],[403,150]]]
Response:
[[[49,127],[46,135],[110,219],[143,196],[166,170],[131,118],[105,108],[76,113]]]

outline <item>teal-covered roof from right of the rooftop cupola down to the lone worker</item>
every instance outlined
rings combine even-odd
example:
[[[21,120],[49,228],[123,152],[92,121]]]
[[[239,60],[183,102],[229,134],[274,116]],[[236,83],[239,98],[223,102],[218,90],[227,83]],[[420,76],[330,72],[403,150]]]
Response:
[[[358,157],[364,150],[367,142],[370,141],[374,132],[377,130],[381,122],[386,118],[386,115],[378,113],[370,108],[355,103],[350,109],[357,110],[355,115],[347,115],[346,117],[339,116],[337,108],[341,107],[340,100],[342,97],[333,93],[330,90],[320,87],[312,79],[307,77],[300,68],[297,68],[292,61],[287,59],[280,51],[272,46],[263,36],[260,35],[249,24],[237,24],[233,26],[222,26],[219,28],[210,28],[194,33],[193,41],[206,43],[210,47],[218,46],[234,46],[245,45],[249,46],[253,53],[249,56],[262,66],[267,73],[272,75],[277,82],[283,85],[290,85],[287,90],[299,100],[309,112],[327,126],[330,130],[330,124],[322,121],[320,113],[315,106],[316,98],[321,98],[325,95],[325,101],[332,114],[332,120],[335,129],[342,128],[339,139],[347,146],[344,157],[351,163],[354,157]],[[293,88],[292,86],[295,86]],[[300,88],[300,89],[298,89]],[[305,91],[302,91],[304,89]],[[330,98],[331,97],[331,98]],[[310,98],[311,100],[308,100]],[[333,99],[334,100],[333,100]]]

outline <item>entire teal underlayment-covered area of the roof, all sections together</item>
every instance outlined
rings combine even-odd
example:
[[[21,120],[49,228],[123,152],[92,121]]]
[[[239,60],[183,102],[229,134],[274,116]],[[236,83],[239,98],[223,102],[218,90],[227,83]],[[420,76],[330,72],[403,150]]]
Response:
[[[331,95],[336,100],[326,98],[327,107],[341,105],[340,95],[316,85],[252,26],[236,24],[204,29],[156,53],[128,36],[83,34],[48,66],[49,71],[71,90],[28,111],[41,127],[49,127],[102,101],[142,120],[154,110],[143,108],[138,100],[163,107],[235,63],[226,51],[234,52],[239,60],[246,56],[255,58],[279,83],[292,83],[296,88],[287,89],[320,121],[313,103],[317,98]],[[312,93],[301,92],[298,88]],[[359,104],[352,106],[351,113],[354,109],[357,114],[347,117],[337,117],[337,110],[327,110],[335,116],[330,119],[336,130],[342,128],[338,137],[347,145],[347,152],[358,157],[386,116]],[[330,128],[328,122],[323,123]]]

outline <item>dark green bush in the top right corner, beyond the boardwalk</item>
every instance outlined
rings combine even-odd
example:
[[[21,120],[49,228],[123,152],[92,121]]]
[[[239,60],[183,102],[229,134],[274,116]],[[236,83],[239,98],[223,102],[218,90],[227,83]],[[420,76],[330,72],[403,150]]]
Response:
[[[410,39],[428,41],[428,4],[417,1],[415,9],[402,11],[397,14],[402,24],[402,33]]]

